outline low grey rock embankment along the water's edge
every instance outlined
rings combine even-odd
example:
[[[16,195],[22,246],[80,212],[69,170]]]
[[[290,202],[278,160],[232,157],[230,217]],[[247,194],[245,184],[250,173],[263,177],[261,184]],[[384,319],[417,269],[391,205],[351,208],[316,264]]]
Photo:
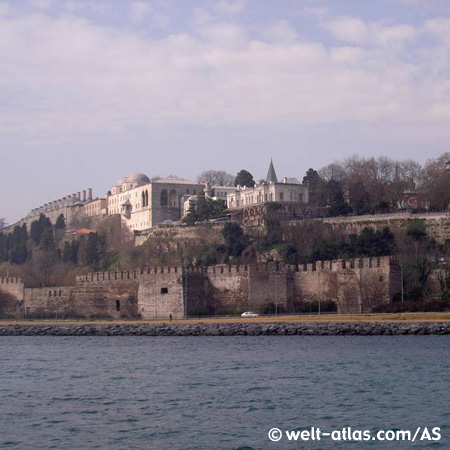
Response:
[[[399,336],[449,335],[450,323],[214,323],[0,325],[0,336]]]

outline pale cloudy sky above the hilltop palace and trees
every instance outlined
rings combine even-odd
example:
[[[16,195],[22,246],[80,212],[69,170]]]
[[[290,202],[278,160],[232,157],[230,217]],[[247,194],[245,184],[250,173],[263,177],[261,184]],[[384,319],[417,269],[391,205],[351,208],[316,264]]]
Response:
[[[449,151],[448,0],[0,0],[0,217],[124,175]]]

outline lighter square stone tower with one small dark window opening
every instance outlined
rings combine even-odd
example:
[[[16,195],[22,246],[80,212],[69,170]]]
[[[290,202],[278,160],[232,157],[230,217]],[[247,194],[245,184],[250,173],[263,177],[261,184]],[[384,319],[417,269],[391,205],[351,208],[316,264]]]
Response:
[[[184,317],[183,271],[180,267],[148,270],[140,277],[138,314],[143,319]]]

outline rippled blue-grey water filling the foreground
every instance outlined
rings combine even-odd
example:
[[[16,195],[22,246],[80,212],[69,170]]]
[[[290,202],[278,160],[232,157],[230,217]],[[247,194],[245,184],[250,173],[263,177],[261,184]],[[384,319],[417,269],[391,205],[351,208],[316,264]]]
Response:
[[[450,448],[450,337],[1,337],[0,448]],[[439,442],[270,442],[272,427]]]

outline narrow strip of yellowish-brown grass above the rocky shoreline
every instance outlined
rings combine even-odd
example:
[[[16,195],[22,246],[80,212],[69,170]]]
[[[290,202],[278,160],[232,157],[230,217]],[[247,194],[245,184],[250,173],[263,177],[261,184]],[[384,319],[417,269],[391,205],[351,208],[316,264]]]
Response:
[[[274,323],[274,322],[450,322],[450,313],[401,313],[401,314],[349,314],[349,315],[284,315],[261,316],[254,318],[230,317],[230,318],[202,318],[202,319],[174,319],[173,324],[197,324],[197,323]],[[161,320],[0,320],[0,325],[51,325],[51,324],[162,324],[169,323],[167,319]]]

